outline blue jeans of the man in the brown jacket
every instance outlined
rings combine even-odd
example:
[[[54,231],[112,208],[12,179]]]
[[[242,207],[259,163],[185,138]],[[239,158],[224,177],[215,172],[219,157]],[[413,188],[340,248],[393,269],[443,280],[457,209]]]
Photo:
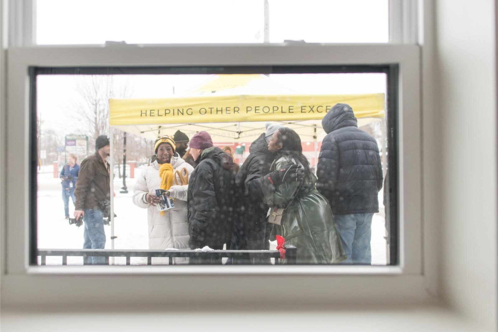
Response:
[[[83,233],[83,249],[104,249],[106,234],[104,233],[104,214],[99,209],[85,209],[83,211],[85,231]],[[105,257],[89,257],[91,264],[104,264]]]

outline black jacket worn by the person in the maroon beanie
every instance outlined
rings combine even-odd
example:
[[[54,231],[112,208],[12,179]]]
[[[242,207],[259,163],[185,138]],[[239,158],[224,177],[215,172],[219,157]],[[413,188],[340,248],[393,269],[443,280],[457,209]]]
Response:
[[[231,236],[234,162],[218,147],[204,150],[196,162],[187,191],[189,246],[222,246]]]

